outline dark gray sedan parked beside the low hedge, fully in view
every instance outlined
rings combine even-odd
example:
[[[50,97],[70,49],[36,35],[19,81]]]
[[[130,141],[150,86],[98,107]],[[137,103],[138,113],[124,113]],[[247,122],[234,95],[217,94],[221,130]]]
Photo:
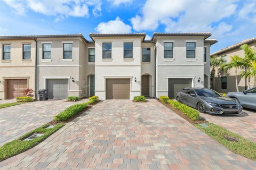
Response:
[[[185,88],[177,92],[177,101],[198,109],[201,113],[242,114],[243,107],[238,101],[223,97],[207,88]]]

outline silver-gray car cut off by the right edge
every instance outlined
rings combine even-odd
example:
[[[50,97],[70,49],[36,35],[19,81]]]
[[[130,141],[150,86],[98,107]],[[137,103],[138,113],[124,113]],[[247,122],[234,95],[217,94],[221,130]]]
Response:
[[[243,92],[228,92],[227,97],[237,100],[243,107],[256,109],[256,86]]]

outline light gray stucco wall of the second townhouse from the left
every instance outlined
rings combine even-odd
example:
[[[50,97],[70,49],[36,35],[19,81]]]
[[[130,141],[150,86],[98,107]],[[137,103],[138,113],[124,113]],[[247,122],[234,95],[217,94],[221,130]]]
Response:
[[[51,43],[51,61],[43,60],[44,43]],[[63,60],[63,43],[72,43],[72,60]],[[37,60],[37,89],[47,89],[46,79],[66,79],[69,81],[68,96],[84,97],[83,93],[83,75],[82,67],[85,53],[81,47],[85,42],[81,38],[51,38],[38,39],[38,60]],[[79,57],[80,56],[80,57]],[[74,78],[75,82],[71,81]],[[83,88],[82,88],[83,87]]]

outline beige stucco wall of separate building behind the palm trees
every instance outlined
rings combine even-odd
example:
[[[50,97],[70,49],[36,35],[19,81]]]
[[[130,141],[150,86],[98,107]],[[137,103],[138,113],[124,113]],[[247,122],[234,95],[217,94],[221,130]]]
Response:
[[[249,44],[255,51],[256,51],[256,43]],[[227,63],[231,61],[230,56],[238,55],[239,57],[244,57],[244,51],[241,48],[236,48],[233,50],[229,50],[225,53],[219,54],[218,57],[227,55]],[[237,80],[238,80],[238,89],[239,91],[245,90],[245,78],[241,77],[241,69],[237,69]],[[221,92],[221,93],[227,93],[236,91],[236,81],[235,81],[235,69],[230,69],[227,72],[227,89],[221,89],[221,77],[225,76],[223,72],[217,71],[215,75],[215,88],[214,90]],[[253,86],[253,78],[251,78],[251,87]],[[248,86],[248,79],[247,79],[247,86]]]

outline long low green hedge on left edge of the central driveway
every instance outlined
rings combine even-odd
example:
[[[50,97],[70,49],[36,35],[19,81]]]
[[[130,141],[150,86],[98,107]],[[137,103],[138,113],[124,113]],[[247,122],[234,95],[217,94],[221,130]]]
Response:
[[[54,116],[55,121],[66,121],[69,117],[76,115],[78,112],[83,111],[87,107],[87,103],[81,103],[69,106],[64,111],[60,112],[58,115]]]

